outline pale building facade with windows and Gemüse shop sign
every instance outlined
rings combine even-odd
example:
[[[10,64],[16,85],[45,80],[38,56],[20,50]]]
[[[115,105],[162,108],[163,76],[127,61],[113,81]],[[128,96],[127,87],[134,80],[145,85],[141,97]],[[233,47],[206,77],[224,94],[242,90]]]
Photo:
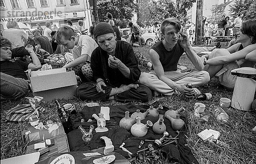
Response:
[[[84,21],[84,28],[92,25],[90,5],[88,0],[0,0],[0,21],[15,20],[25,23],[29,28],[35,28],[37,23],[44,26],[46,22],[60,27],[72,20],[78,25],[78,20]]]

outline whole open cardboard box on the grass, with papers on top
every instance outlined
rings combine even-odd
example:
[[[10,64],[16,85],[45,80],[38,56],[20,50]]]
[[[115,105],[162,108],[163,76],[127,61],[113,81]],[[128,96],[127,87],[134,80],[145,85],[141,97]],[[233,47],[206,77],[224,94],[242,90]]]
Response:
[[[56,69],[56,71],[61,71],[61,69]],[[66,72],[65,70],[65,72],[55,73],[55,70],[46,70],[43,74],[38,73],[37,76],[30,77],[34,96],[44,97],[45,102],[50,102],[53,99],[68,99],[75,96],[77,81],[74,71]]]

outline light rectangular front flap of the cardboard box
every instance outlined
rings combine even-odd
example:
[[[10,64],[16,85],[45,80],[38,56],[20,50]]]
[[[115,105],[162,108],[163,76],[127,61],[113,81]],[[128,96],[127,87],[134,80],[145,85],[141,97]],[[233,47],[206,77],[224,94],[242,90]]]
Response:
[[[74,71],[30,77],[33,92],[77,85]]]

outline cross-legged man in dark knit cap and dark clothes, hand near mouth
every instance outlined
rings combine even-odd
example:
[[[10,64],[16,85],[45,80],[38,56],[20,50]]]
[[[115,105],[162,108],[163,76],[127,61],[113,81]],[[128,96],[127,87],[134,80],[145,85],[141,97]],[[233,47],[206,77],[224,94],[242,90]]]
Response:
[[[94,36],[99,44],[91,56],[93,79],[76,89],[76,96],[88,100],[115,99],[121,102],[151,99],[151,90],[138,81],[140,69],[128,42],[116,40],[108,23],[98,23]]]

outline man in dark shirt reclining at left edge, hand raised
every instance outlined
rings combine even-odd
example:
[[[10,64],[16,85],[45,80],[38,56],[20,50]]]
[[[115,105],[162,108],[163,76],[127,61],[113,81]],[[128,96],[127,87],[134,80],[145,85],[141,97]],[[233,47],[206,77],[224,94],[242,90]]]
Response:
[[[32,45],[26,46],[26,51],[29,52],[33,59],[33,63],[15,61],[12,59],[12,44],[6,38],[0,39],[0,72],[1,72],[1,101],[12,100],[25,96],[29,92],[28,77],[24,71],[31,69],[36,71],[40,69],[41,63],[38,60]]]

